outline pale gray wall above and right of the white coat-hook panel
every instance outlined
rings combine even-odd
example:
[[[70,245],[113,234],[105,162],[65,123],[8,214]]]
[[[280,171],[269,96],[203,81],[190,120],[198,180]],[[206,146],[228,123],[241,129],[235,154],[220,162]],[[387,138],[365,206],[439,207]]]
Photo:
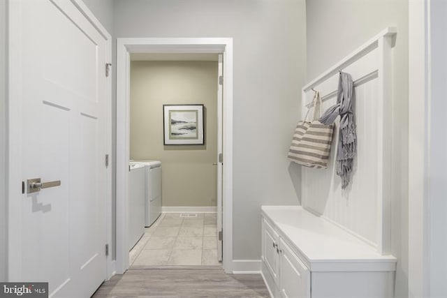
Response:
[[[396,297],[408,297],[408,1],[307,0],[307,80],[388,26],[397,26],[393,73],[392,253]]]

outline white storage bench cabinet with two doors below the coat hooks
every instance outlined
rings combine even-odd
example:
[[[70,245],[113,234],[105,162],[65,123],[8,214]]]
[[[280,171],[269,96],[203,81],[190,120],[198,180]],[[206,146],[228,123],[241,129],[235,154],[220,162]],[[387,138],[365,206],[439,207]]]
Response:
[[[272,297],[391,298],[396,259],[302,207],[262,207],[262,274]]]

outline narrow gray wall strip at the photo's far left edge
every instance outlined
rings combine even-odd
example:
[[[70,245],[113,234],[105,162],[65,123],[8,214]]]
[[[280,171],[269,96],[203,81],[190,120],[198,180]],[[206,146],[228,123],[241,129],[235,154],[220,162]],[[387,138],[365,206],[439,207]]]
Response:
[[[6,278],[6,1],[0,1],[0,281]]]

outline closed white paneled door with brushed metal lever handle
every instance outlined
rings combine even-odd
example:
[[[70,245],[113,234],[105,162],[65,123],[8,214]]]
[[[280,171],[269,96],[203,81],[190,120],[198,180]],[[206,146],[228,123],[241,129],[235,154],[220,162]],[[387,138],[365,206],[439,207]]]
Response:
[[[72,1],[9,11],[8,279],[89,297],[106,276],[107,41]],[[34,178],[60,186],[29,193]]]

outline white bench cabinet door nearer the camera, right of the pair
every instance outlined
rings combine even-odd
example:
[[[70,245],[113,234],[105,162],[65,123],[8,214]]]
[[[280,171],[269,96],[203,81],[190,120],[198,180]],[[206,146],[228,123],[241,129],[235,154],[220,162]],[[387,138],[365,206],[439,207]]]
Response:
[[[310,298],[309,269],[282,239],[279,241],[281,256],[279,288],[281,289],[281,297]]]

